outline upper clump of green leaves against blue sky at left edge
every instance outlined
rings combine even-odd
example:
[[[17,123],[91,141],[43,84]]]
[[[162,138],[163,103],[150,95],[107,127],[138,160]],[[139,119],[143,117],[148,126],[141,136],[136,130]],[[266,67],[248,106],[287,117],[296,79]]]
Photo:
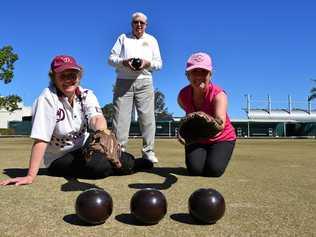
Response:
[[[5,84],[11,82],[14,76],[14,63],[18,58],[11,46],[4,46],[0,49],[0,80],[4,80]]]

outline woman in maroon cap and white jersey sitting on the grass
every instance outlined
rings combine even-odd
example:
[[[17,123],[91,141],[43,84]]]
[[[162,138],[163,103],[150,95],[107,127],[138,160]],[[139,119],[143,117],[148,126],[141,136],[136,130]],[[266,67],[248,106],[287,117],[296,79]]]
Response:
[[[130,174],[147,165],[126,152],[122,152],[119,169],[101,153],[95,153],[89,161],[84,158],[88,129],[104,131],[107,123],[94,93],[79,86],[82,73],[82,67],[71,56],[53,59],[50,85],[33,105],[34,143],[28,173],[0,181],[0,185],[33,183],[43,159],[50,175],[91,179]]]

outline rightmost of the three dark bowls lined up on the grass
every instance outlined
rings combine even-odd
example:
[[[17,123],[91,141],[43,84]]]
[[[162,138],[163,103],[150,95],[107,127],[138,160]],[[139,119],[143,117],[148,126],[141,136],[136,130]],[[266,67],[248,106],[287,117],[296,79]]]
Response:
[[[197,222],[214,224],[224,216],[224,197],[215,189],[198,189],[189,198],[189,212]]]

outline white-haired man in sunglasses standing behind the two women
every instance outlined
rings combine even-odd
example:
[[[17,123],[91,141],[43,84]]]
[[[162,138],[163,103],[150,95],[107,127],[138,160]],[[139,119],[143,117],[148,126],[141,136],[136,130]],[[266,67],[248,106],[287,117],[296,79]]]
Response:
[[[145,32],[145,14],[134,13],[131,24],[132,32],[118,37],[109,56],[109,64],[116,68],[117,73],[113,96],[113,131],[123,149],[126,149],[135,104],[143,137],[143,158],[157,163],[154,152],[156,122],[152,72],[162,67],[162,60],[157,40]]]

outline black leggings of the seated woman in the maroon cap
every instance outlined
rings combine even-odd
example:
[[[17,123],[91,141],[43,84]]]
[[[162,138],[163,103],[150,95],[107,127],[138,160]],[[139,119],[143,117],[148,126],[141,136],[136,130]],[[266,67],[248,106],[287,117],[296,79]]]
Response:
[[[115,169],[110,161],[104,159],[101,153],[95,153],[91,160],[86,161],[82,149],[70,152],[53,161],[48,172],[53,176],[99,179],[110,175],[131,174],[134,171],[134,156],[122,152],[120,157],[122,167]]]

